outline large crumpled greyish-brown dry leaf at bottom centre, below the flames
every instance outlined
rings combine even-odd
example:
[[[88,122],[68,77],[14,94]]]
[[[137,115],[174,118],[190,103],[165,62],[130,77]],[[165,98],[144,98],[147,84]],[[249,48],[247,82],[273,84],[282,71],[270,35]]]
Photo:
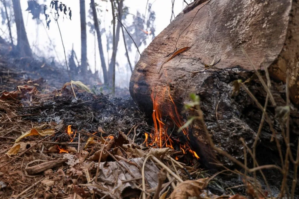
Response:
[[[101,172],[99,172],[98,179],[102,179],[104,182],[100,180],[97,181],[97,183],[92,182],[86,186],[90,190],[96,190],[97,193],[107,194],[106,198],[138,198],[140,190],[138,189],[139,187],[137,184],[140,184],[141,180],[137,180],[136,182],[136,180],[133,179],[141,178],[141,169],[139,168],[142,167],[144,158],[134,158],[131,159],[131,161],[135,164],[123,160],[119,160],[119,163],[122,166],[116,161],[101,162],[99,165]],[[96,169],[97,163],[94,163],[91,170]],[[158,167],[151,160],[148,160],[144,167],[144,177],[148,188],[154,188],[158,185],[158,173]]]

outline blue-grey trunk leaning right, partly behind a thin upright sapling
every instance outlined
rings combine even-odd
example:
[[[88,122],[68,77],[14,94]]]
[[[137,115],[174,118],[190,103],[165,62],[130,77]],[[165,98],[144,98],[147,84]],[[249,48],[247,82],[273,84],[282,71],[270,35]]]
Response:
[[[122,16],[121,12],[123,10],[123,0],[119,1],[118,6],[119,6],[119,8],[118,8],[118,10],[119,10],[118,18],[121,19],[121,16]],[[110,81],[112,80],[112,78],[114,76],[113,75],[113,70],[115,70],[116,52],[117,52],[118,41],[119,41],[120,27],[121,27],[121,24],[118,22],[117,27],[116,27],[116,32],[115,32],[115,47],[113,48],[114,50],[112,52],[112,57],[111,57],[111,61],[110,61],[110,64],[109,64],[109,78],[110,78]]]

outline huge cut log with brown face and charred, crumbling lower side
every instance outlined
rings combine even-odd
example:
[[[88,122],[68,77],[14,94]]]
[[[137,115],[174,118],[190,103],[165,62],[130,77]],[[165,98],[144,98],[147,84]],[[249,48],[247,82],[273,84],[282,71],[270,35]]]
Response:
[[[165,94],[167,88],[170,88],[170,95],[179,111],[184,103],[190,101],[190,93],[200,95],[206,125],[214,143],[242,159],[239,138],[252,145],[262,112],[243,90],[238,96],[231,97],[232,82],[237,79],[245,81],[253,74],[240,47],[244,47],[262,74],[264,67],[269,69],[271,90],[277,105],[285,105],[284,83],[289,71],[290,98],[298,106],[298,7],[295,0],[196,0],[142,53],[130,80],[132,98],[150,114],[153,109],[152,94],[158,96],[162,117],[167,117],[172,112],[170,98]],[[166,62],[170,53],[183,47],[190,49]],[[220,61],[213,68],[205,69],[205,65],[213,60],[214,63]],[[253,80],[246,85],[264,104],[266,92],[259,81]],[[279,131],[270,102],[268,110],[274,127]],[[291,111],[291,116],[291,135],[298,136],[296,108]],[[214,154],[201,129],[194,125],[191,144],[202,160],[209,162],[216,158],[230,164],[227,159]],[[265,153],[269,152],[269,148],[275,149],[275,144],[269,142],[270,137],[269,126],[264,125],[261,143],[268,149],[263,150]],[[280,135],[278,138],[282,141]]]

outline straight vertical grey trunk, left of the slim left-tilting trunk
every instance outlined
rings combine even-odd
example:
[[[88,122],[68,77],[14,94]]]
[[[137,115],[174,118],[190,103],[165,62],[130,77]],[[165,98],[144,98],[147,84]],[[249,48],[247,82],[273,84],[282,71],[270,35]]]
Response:
[[[87,35],[86,35],[86,14],[85,0],[80,0],[80,22],[81,22],[81,72],[87,72]]]

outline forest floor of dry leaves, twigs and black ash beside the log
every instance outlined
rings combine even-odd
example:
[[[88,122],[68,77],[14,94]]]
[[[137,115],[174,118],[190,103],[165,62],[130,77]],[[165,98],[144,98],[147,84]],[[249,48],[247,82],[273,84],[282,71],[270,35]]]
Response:
[[[63,87],[67,74],[60,69],[0,46],[0,198],[256,194],[237,172],[217,176],[190,155],[147,146],[152,124],[128,90],[111,98]]]

